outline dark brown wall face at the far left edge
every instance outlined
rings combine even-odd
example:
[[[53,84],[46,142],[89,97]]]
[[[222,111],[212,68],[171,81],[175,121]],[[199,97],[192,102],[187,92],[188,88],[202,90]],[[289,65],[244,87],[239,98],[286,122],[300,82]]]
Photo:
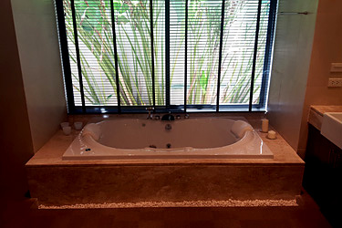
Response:
[[[11,2],[1,3],[5,36],[0,36],[0,201],[5,209],[5,201],[23,198],[28,190],[24,165],[34,152]]]

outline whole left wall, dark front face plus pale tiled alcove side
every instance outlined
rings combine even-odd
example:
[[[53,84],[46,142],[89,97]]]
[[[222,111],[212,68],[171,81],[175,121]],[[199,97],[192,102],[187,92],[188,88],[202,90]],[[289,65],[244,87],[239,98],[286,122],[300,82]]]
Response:
[[[55,18],[52,0],[1,2],[2,209],[24,198],[26,161],[67,119]]]

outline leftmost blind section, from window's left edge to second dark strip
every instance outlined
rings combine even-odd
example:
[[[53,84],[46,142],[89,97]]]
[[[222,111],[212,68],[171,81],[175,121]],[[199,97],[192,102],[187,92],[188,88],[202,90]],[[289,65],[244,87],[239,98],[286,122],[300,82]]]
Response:
[[[70,0],[65,1],[66,24],[69,26],[68,39],[70,67],[72,72],[75,103],[81,103],[79,95],[78,62],[75,51],[73,26],[78,31],[79,61],[83,82],[84,98],[87,106],[117,105],[113,34],[109,0],[75,0],[76,25],[71,25]]]

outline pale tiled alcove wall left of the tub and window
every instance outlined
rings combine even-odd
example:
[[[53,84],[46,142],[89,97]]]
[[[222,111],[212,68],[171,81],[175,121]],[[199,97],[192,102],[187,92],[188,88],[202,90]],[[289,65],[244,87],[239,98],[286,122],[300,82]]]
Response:
[[[34,150],[67,119],[53,0],[12,0]]]

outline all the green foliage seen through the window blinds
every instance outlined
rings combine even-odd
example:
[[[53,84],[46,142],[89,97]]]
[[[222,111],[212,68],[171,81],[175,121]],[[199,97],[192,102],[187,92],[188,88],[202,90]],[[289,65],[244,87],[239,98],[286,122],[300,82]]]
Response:
[[[184,24],[185,5],[180,7],[181,0],[171,0],[171,7],[176,12],[177,23]],[[185,2],[185,1],[183,1]],[[189,0],[188,34],[191,47],[188,49],[189,83],[187,89],[188,104],[214,104],[218,75],[218,52],[221,34],[222,2]],[[264,2],[263,2],[264,3]],[[151,48],[150,48],[150,1],[113,0],[116,42],[119,64],[119,94],[121,104],[127,106],[151,105]],[[230,28],[238,13],[244,9],[245,1],[226,1],[224,20],[223,47],[230,34]],[[263,16],[266,16],[267,3],[264,3]],[[114,45],[111,25],[109,0],[75,0],[77,31],[80,48],[81,71],[84,80],[85,98],[88,104],[106,106],[116,100],[116,72]],[[75,37],[69,0],[64,0],[65,18],[69,56],[76,65]],[[164,105],[164,2],[153,1],[154,59],[155,59],[155,93],[156,104]],[[251,35],[254,25],[246,26],[245,39]],[[210,35],[210,36],[207,36]],[[261,34],[264,42],[265,34]],[[252,39],[254,42],[254,39]],[[184,37],[179,37],[177,53],[182,52]],[[204,46],[203,46],[204,45]],[[263,48],[263,47],[260,47]],[[262,75],[264,58],[263,50],[258,50],[256,79]],[[222,93],[223,104],[247,103],[250,90],[251,68],[253,57],[243,50],[237,57],[233,52],[223,56]],[[241,56],[241,54],[243,54]],[[183,62],[176,58],[171,62],[171,79],[174,68]],[[248,62],[242,66],[239,62]],[[228,69],[230,72],[228,73]],[[74,82],[78,82],[78,72],[72,71]],[[75,92],[79,91],[78,83],[74,83]],[[254,87],[257,94],[260,87]],[[258,96],[255,97],[255,102]]]

